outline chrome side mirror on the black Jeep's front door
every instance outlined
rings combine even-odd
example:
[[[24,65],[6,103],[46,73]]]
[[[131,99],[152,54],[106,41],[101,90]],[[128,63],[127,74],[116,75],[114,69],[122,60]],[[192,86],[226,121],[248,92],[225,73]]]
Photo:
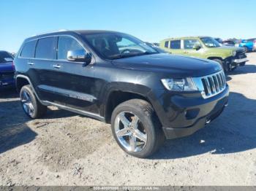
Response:
[[[67,52],[67,61],[83,62],[88,65],[91,63],[91,54],[85,50],[69,50]]]

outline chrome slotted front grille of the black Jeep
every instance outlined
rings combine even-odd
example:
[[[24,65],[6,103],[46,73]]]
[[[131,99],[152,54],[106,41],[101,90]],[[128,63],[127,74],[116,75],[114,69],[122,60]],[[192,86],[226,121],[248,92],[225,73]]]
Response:
[[[193,81],[203,98],[211,98],[226,88],[226,78],[223,71],[205,77],[194,77]]]

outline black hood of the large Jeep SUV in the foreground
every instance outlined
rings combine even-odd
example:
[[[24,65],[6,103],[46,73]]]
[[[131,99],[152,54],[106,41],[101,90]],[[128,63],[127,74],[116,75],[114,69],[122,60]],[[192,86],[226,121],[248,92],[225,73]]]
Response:
[[[140,69],[153,72],[166,72],[182,77],[203,77],[220,71],[219,63],[181,55],[153,54],[120,58],[112,62],[124,69]]]

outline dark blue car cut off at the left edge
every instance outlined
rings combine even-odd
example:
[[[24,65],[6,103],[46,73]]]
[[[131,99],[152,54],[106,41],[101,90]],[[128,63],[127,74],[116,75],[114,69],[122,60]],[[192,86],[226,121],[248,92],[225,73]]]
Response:
[[[0,89],[15,85],[12,55],[7,51],[0,50]]]

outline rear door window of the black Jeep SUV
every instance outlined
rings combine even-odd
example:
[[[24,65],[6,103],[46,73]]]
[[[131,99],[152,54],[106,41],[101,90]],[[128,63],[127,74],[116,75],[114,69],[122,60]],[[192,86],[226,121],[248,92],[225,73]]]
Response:
[[[56,44],[56,37],[47,37],[39,39],[36,47],[36,58],[55,60]]]

